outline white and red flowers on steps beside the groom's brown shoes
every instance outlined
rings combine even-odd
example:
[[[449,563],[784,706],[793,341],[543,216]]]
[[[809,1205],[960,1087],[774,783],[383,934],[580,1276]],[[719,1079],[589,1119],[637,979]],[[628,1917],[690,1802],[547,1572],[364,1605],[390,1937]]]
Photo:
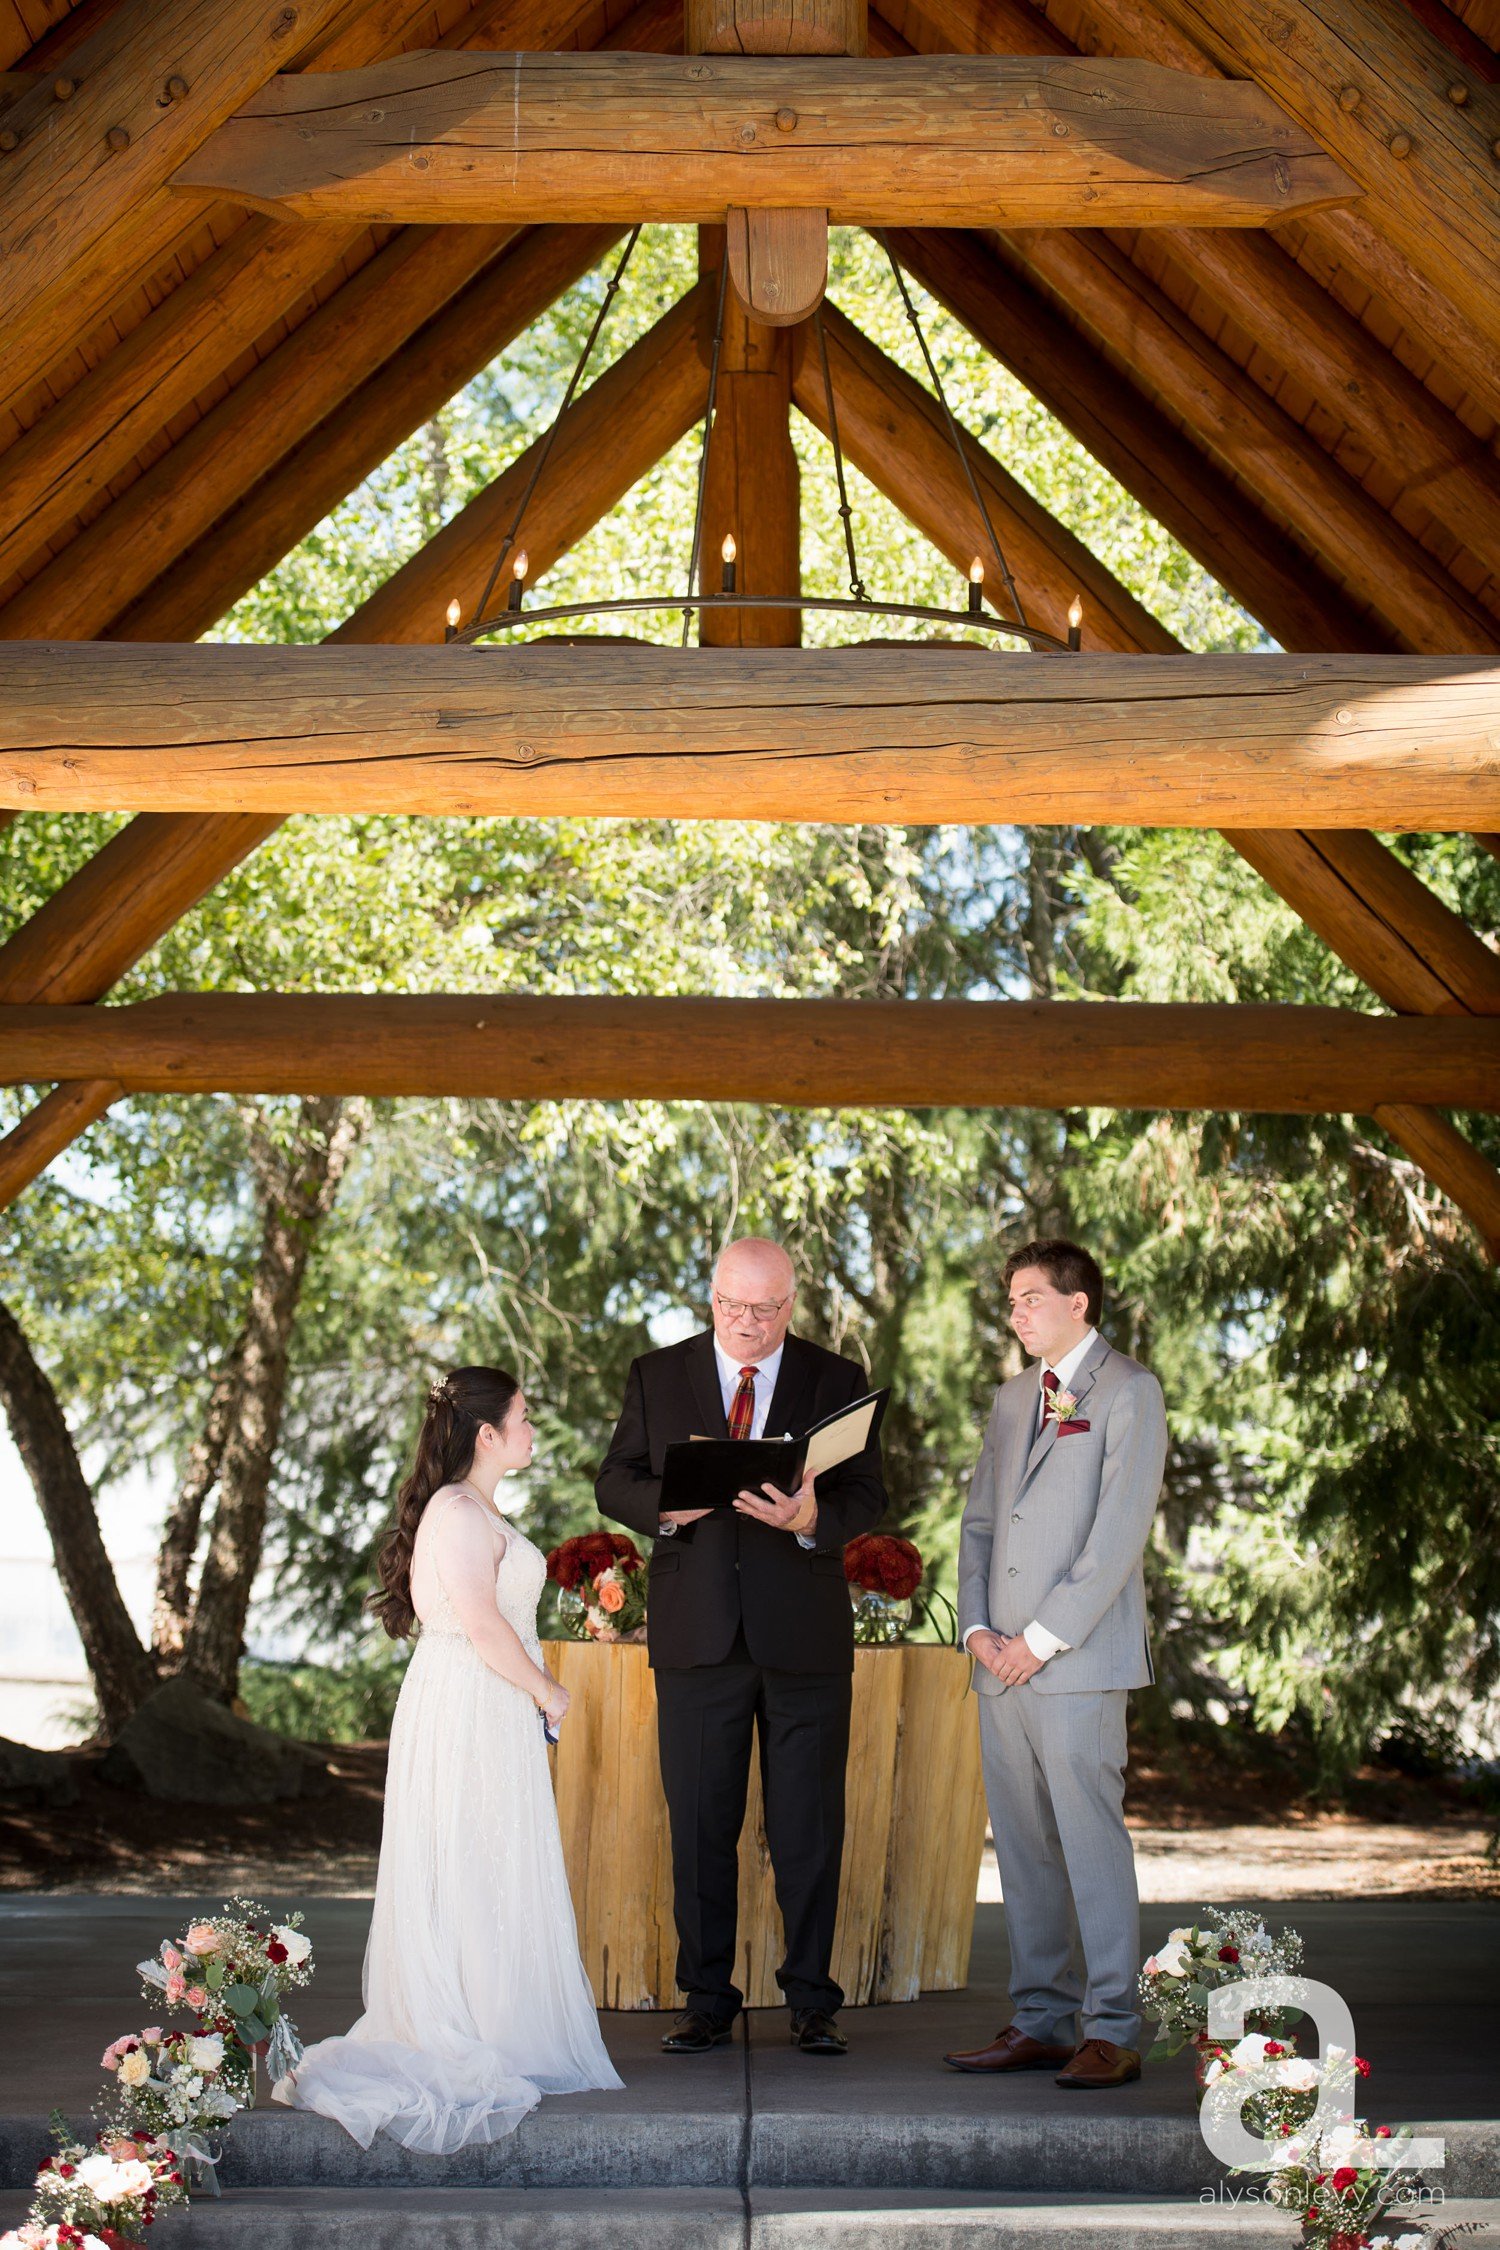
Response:
[[[1266,2194],[1280,2210],[1298,2214],[1302,2250],[1430,2250],[1421,2230],[1388,2232],[1417,2203],[1421,2174],[1370,2162],[1372,2142],[1406,2142],[1408,2128],[1367,2126],[1356,2117],[1309,2131],[1325,2086],[1349,2092],[1356,2079],[1370,2077],[1363,2056],[1340,2048],[1329,2048],[1322,2061],[1298,2054],[1293,2025],[1302,2009],[1250,2009],[1246,2023],[1255,2027],[1241,2038],[1226,2043],[1210,2036],[1212,1991],[1237,1978],[1295,1976],[1300,1966],[1298,1930],[1271,1933],[1257,1915],[1201,1908],[1199,1919],[1172,1930],[1140,1971],[1140,2000],[1158,2025],[1151,2059],[1192,2048],[1205,2110],[1223,2106],[1241,2117],[1246,2131],[1277,2142]],[[1268,2063],[1280,2066],[1271,2086],[1262,2084]],[[1250,2074],[1257,2090],[1246,2095],[1244,2079]]]

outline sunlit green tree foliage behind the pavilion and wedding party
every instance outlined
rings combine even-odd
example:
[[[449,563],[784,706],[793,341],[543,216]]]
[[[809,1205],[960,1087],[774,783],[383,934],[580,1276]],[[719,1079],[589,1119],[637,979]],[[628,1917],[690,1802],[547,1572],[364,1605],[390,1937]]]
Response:
[[[690,281],[690,236],[648,230],[603,358]],[[501,353],[220,637],[308,641],[349,614],[544,428],[600,288],[589,277]],[[922,374],[861,236],[834,241],[834,297]],[[1262,646],[1037,400],[920,306],[965,425],[1185,646]],[[839,594],[828,448],[805,425],[796,443],[807,585]],[[690,436],[562,558],[549,596],[681,585],[695,475]],[[850,488],[870,587],[951,601],[947,562],[864,479]],[[679,621],[641,630],[675,639]],[[4,918],[110,826],[27,817],[0,835]],[[1496,932],[1500,868],[1475,844],[1392,842]],[[121,997],[169,988],[1374,1008],[1219,837],[1075,828],[295,819]],[[106,1480],[144,1456],[180,1467],[202,1426],[256,1256],[250,1127],[279,1116],[121,1102],[0,1217],[4,1294]],[[1489,1120],[1464,1123],[1500,1154]],[[425,1382],[450,1364],[522,1375],[544,1440],[526,1523],[544,1541],[582,1528],[630,1357],[699,1314],[717,1244],[749,1228],[798,1249],[803,1325],[895,1384],[893,1526],[949,1584],[990,1388],[1019,1366],[1005,1251],[1037,1231],[1095,1244],[1109,1334],[1158,1368],[1172,1408],[1158,1719],[1223,1701],[1338,1775],[1412,1710],[1493,1685],[1496,1278],[1356,1118],[371,1102],[301,1289],[263,1616],[295,1622],[315,1658],[367,1647],[371,1544]],[[256,1670],[247,1690],[281,1724],[346,1730],[385,1708],[389,1665],[360,1654],[337,1710],[304,1674]]]

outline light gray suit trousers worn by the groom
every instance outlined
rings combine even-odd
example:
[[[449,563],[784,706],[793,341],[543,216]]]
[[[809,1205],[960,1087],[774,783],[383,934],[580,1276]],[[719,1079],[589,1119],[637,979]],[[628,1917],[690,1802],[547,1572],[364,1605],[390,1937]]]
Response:
[[[1016,2030],[1140,2045],[1140,1906],[1124,1827],[1124,1688],[981,1694]],[[1086,1982],[1077,1969],[1082,1940]]]

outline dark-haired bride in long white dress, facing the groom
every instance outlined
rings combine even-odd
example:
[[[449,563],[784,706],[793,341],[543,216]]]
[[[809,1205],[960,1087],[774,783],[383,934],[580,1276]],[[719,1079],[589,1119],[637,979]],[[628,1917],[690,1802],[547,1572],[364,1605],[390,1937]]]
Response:
[[[445,2156],[513,2133],[542,2095],[621,2086],[578,1960],[544,1730],[540,1548],[495,1492],[531,1460],[519,1386],[457,1368],[427,1395],[380,1548],[387,1634],[421,1624],[391,1724],[364,2014],[277,2086],[369,2149]]]

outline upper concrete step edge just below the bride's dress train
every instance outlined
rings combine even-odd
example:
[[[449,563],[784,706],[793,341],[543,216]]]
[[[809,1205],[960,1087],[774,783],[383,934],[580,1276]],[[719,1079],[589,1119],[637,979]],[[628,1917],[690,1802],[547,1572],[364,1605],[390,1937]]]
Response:
[[[616,2097],[618,2099],[618,2097]],[[544,2102],[504,2140],[416,2156],[378,2135],[360,2149],[328,2117],[259,2108],[225,2133],[220,2180],[245,2189],[837,2189],[1174,2198],[1223,2178],[1196,2122],[1124,2117],[1102,2097],[1066,2115],[798,2108],[744,2115]],[[81,2138],[83,2117],[74,2120]],[[1451,2196],[1500,2198],[1500,2122],[1424,2124],[1448,2144],[1433,2174]],[[27,2187],[49,2149],[45,2117],[0,2117],[0,2187]]]

